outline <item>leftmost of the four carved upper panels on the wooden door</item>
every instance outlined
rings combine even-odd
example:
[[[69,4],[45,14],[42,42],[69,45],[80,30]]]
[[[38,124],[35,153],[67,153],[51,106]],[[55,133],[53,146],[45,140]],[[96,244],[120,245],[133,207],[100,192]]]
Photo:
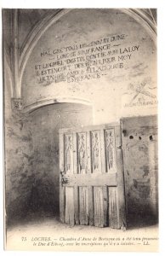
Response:
[[[65,135],[65,172],[72,172],[72,135]]]

